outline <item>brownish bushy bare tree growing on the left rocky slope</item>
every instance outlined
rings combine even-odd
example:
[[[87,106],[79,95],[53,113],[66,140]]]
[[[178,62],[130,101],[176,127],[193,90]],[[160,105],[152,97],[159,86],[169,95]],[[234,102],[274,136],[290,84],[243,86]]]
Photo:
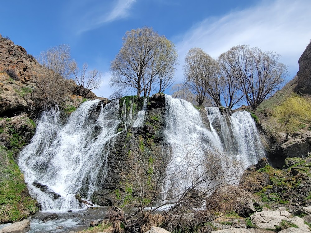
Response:
[[[67,45],[59,45],[43,51],[37,60],[43,69],[39,70],[36,79],[38,86],[36,97],[38,107],[44,110],[59,103],[63,95],[68,92],[67,79],[70,78],[74,62]]]

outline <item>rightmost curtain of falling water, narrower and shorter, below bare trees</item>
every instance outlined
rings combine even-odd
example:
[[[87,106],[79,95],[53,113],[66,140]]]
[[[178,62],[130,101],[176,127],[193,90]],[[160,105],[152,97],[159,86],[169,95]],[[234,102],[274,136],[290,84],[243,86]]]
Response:
[[[243,160],[245,166],[255,164],[265,156],[258,130],[249,112],[238,111],[228,117],[222,115],[217,107],[207,107],[206,110],[211,130],[215,130],[213,123],[219,121],[222,144],[227,153]]]

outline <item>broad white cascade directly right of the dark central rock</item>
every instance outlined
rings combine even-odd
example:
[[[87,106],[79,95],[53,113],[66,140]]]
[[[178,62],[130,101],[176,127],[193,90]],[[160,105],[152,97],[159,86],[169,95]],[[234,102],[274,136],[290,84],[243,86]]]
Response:
[[[211,151],[222,153],[223,147],[216,133],[207,130],[200,113],[186,100],[165,95],[165,139],[169,145],[171,174],[165,184],[165,194],[177,197],[205,173],[204,156]],[[204,188],[204,183],[201,184]]]

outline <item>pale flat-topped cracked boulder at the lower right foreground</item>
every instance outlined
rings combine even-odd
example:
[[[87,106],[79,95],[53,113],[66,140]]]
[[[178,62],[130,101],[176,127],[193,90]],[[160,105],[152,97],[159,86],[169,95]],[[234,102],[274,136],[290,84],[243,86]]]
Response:
[[[275,226],[280,226],[282,220],[287,220],[288,217],[291,217],[291,214],[287,211],[267,210],[254,213],[251,216],[251,221],[260,229],[275,229]]]

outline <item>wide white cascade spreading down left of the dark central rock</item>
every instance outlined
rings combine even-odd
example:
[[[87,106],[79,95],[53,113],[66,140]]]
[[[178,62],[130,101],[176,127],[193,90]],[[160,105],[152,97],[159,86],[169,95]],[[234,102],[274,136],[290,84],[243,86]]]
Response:
[[[42,210],[79,208],[74,194],[90,198],[106,175],[107,156],[120,123],[119,101],[101,107],[99,117],[92,119],[98,100],[87,101],[62,125],[59,110],[44,112],[37,123],[31,143],[20,154],[19,166],[32,196]],[[108,148],[108,149],[107,149]],[[47,185],[42,192],[33,185]]]

